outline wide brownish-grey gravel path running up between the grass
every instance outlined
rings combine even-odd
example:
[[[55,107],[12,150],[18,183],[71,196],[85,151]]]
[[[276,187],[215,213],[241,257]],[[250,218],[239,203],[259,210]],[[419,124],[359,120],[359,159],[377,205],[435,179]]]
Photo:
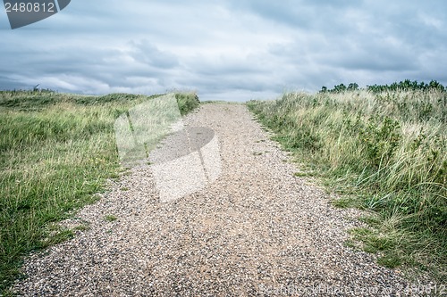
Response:
[[[244,105],[204,104],[185,123],[218,136],[219,177],[161,202],[153,165],[131,169],[64,223],[87,230],[25,261],[20,295],[399,295],[397,272],[343,245],[358,210],[334,209],[294,177],[295,164]]]

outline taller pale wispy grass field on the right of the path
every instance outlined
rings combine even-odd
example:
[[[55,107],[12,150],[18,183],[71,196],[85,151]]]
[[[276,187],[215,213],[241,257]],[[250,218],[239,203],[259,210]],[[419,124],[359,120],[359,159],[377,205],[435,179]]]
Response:
[[[351,230],[348,244],[445,281],[447,92],[290,93],[248,105],[293,153],[297,175],[340,194],[335,205],[367,210],[370,227]]]

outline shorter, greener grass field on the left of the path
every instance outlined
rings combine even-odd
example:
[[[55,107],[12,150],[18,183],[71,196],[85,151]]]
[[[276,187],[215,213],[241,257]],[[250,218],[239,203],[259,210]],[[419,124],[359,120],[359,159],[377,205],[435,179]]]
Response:
[[[118,177],[114,121],[153,97],[0,92],[0,293],[24,255],[72,236],[54,223]],[[176,98],[181,114],[199,105],[195,94]]]

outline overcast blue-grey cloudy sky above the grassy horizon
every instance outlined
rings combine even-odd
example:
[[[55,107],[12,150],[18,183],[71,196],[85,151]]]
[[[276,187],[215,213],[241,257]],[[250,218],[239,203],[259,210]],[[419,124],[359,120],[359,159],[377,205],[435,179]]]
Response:
[[[0,89],[274,98],[409,78],[447,85],[444,0],[72,0],[11,29],[0,11]]]

